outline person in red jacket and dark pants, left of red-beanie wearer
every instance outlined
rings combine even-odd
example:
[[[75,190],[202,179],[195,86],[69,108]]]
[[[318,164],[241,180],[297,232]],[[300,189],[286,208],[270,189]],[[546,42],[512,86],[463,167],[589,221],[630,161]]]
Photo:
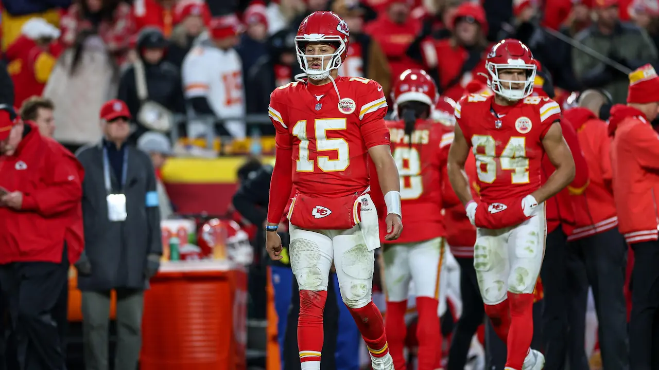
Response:
[[[587,90],[580,95],[579,106],[563,112],[563,117],[577,131],[590,177],[590,184],[584,192],[571,197],[575,228],[567,237],[569,268],[575,271],[576,277],[581,277],[571,279],[574,302],[571,327],[579,331],[573,336],[579,342],[573,348],[584,348],[583,330],[586,327],[588,286],[591,286],[598,307],[604,367],[627,369],[627,310],[623,294],[627,246],[617,230],[608,126],[598,118],[602,104],[606,103],[602,93]],[[579,350],[579,356],[582,363],[587,361],[584,350]]]

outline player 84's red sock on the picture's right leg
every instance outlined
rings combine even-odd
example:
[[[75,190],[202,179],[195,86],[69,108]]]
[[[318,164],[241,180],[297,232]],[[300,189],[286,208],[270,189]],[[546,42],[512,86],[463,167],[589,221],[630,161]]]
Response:
[[[508,292],[510,332],[506,367],[521,370],[533,338],[533,294]]]

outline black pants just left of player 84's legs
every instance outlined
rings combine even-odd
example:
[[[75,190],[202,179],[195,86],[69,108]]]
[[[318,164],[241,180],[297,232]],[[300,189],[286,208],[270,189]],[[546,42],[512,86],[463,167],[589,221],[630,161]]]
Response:
[[[476,269],[473,258],[456,258],[460,265],[460,294],[462,296],[462,315],[453,330],[447,370],[462,370],[467,362],[471,338],[483,323],[485,308],[478,289]]]

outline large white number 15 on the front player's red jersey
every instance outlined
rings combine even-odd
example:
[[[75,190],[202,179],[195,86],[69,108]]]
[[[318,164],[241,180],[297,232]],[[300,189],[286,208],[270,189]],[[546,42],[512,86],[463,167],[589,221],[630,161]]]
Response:
[[[316,161],[318,168],[323,172],[345,171],[350,165],[350,149],[348,142],[343,138],[327,137],[328,130],[345,130],[347,119],[316,119],[314,132],[316,137]],[[309,135],[306,132],[306,120],[299,120],[293,126],[293,135],[300,140],[297,172],[314,172],[314,161],[309,159]],[[318,155],[321,151],[335,151],[336,159],[329,159],[329,155]]]

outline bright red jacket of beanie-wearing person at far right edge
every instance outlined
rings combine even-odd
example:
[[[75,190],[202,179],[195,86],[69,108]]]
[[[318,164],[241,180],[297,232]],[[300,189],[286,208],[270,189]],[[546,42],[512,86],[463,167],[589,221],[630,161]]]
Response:
[[[611,110],[609,132],[618,229],[630,244],[657,240],[659,136],[641,111],[625,105]]]

